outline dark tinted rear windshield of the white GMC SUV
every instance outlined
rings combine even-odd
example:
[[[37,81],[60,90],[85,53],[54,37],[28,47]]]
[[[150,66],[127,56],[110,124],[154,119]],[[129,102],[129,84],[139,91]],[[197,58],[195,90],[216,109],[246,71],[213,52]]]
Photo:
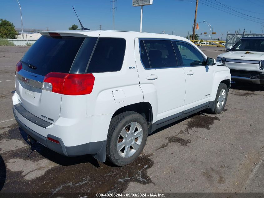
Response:
[[[50,72],[69,73],[84,39],[41,36],[21,59],[22,68],[42,76]]]

